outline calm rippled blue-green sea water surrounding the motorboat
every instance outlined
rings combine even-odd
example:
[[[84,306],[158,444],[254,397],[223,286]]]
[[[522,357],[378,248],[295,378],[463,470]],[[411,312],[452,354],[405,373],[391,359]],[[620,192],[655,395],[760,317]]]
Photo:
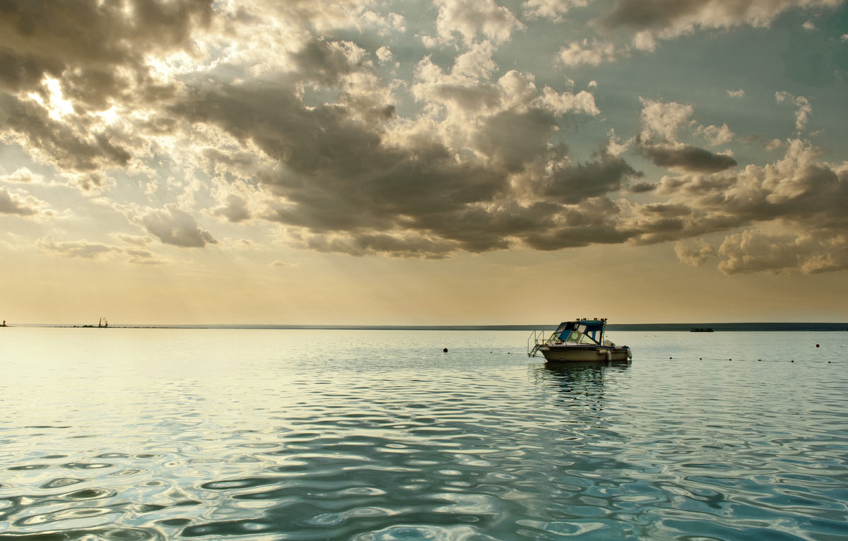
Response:
[[[611,338],[0,329],[0,538],[848,539],[848,333]]]

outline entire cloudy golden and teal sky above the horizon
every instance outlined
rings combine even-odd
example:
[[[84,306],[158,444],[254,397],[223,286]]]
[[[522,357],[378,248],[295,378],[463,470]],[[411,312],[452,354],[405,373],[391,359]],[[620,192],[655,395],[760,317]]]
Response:
[[[4,0],[0,318],[848,321],[845,0]]]

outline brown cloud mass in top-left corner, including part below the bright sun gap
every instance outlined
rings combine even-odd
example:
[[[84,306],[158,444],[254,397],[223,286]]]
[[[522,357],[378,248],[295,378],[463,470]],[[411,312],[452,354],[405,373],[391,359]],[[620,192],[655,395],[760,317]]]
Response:
[[[156,100],[174,90],[153,81],[146,55],[190,50],[212,0],[7,0],[0,3],[0,133],[64,172],[124,167],[128,137],[92,127],[91,111]],[[61,118],[53,79],[75,114]],[[27,94],[34,94],[40,101]],[[102,176],[87,176],[83,189]]]

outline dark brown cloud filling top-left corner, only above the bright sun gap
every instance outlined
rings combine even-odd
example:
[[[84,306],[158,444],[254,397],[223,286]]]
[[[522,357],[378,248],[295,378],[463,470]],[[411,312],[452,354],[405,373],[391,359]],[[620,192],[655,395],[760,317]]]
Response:
[[[133,81],[115,70],[146,72],[144,55],[191,47],[208,25],[212,0],[7,0],[0,3],[0,87],[35,89],[45,75],[64,91],[103,105]]]

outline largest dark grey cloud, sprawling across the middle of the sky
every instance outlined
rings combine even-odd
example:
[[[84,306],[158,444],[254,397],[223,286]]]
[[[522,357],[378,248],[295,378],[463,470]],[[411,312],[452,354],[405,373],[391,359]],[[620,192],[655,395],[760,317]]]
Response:
[[[209,88],[174,111],[218,125],[277,160],[259,174],[282,199],[268,218],[316,231],[388,229],[402,216],[491,200],[506,186],[504,170],[457,163],[427,138],[415,148],[388,148],[379,126],[343,107],[304,108],[277,86]]]

